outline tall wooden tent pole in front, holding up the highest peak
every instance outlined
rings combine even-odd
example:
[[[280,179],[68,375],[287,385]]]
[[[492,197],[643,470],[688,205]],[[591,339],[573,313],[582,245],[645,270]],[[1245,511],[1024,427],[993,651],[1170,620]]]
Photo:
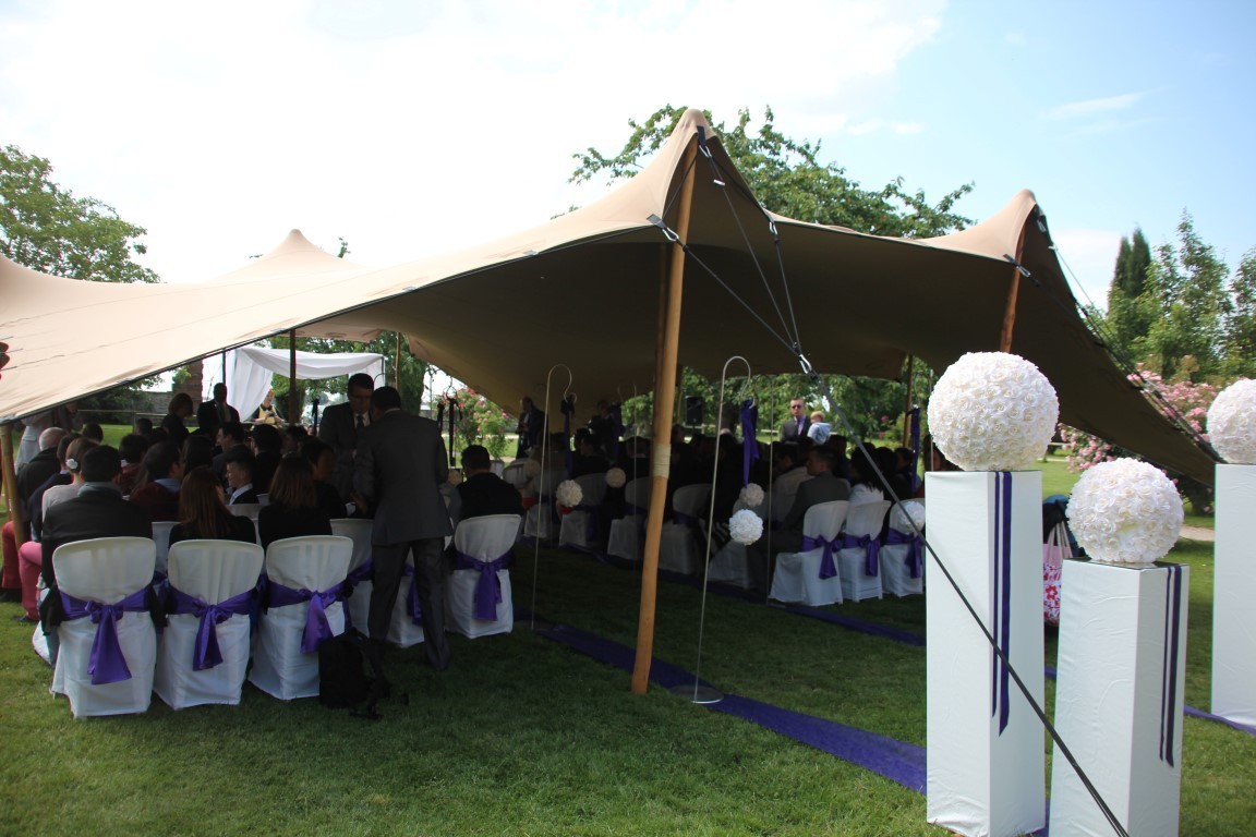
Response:
[[[676,216],[681,241],[690,235],[693,208],[693,161],[697,138],[685,152],[685,184]],[[685,248],[672,245],[671,279],[662,353],[654,376],[654,443],[651,445],[649,513],[646,516],[646,555],[641,573],[641,614],[637,619],[637,660],[632,671],[632,690],[646,694],[649,664],[654,655],[654,600],[658,592],[658,547],[663,538],[663,511],[667,503],[667,474],[672,464],[672,410],[676,408],[676,363],[681,343],[681,297],[685,284]]]

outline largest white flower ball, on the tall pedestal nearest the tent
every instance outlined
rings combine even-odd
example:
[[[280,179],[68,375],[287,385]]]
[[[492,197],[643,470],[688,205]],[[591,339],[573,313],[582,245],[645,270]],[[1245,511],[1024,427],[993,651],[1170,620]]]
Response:
[[[1060,417],[1051,381],[1002,351],[956,360],[929,398],[929,432],[965,471],[1017,471],[1042,456]]]

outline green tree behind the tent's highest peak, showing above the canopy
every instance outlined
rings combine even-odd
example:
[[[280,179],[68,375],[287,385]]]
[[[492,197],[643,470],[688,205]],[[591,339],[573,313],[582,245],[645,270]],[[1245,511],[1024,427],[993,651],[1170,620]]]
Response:
[[[633,133],[623,149],[605,157],[595,148],[574,154],[579,166],[571,182],[609,176],[612,181],[632,177],[671,136],[685,108],[664,105],[644,122],[628,120]],[[726,127],[706,114],[725,151],[764,206],[772,212],[816,223],[838,225],[882,236],[928,237],[972,223],[955,212],[956,202],[972,191],[965,183],[929,203],[923,191],[903,188],[902,178],[879,189],[865,189],[847,177],[845,169],[820,161],[820,143],[796,141],[780,133],[771,108],[764,123],[751,131],[749,110],[740,110],[737,123]]]

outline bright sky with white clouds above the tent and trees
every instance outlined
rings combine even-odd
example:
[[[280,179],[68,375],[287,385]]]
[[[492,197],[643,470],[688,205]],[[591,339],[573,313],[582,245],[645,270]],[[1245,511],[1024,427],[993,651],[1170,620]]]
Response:
[[[359,3],[0,0],[0,143],[148,228],[166,281],[299,227],[383,266],[600,193],[664,103],[771,105],[865,186],[902,177],[983,218],[1035,192],[1102,302],[1122,235],[1183,210],[1231,265],[1256,247],[1256,23],[1246,3]]]

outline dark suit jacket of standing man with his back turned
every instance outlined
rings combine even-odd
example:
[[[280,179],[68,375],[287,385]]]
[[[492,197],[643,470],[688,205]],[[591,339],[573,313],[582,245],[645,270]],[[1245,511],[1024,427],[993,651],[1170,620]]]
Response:
[[[407,543],[453,533],[440,484],[448,457],[432,419],[391,410],[358,438],[353,487],[374,512],[372,543]]]

